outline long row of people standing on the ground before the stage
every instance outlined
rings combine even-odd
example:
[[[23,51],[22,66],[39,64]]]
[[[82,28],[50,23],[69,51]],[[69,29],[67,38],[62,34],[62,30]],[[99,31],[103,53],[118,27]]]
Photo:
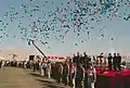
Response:
[[[63,83],[65,87],[92,88],[91,84],[96,80],[95,70],[92,65],[86,70],[82,64],[76,65],[72,59],[55,63],[44,63],[43,61],[30,61],[29,63],[30,68],[40,71],[41,76],[47,74],[48,78],[54,78],[57,83]]]

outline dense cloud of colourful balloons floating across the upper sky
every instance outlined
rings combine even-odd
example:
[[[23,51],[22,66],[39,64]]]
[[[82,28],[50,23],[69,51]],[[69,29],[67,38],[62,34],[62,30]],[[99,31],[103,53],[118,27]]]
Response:
[[[42,0],[41,0],[42,1]],[[48,4],[51,2],[51,4]],[[95,29],[91,24],[95,22],[102,25],[103,21],[112,21],[114,17],[120,17],[129,21],[130,9],[129,0],[66,0],[53,10],[49,10],[47,5],[55,5],[54,1],[43,1],[41,4],[35,4],[30,0],[29,4],[22,4],[20,9],[11,7],[4,13],[9,20],[8,23],[0,21],[3,30],[10,23],[18,23],[21,38],[23,40],[37,40],[43,45],[48,45],[49,39],[56,39],[64,43],[64,38],[70,33],[75,38],[79,38],[80,42],[84,42],[82,35],[90,38],[91,30]],[[121,11],[125,8],[125,11]],[[105,37],[104,28],[100,29],[100,36]],[[15,37],[15,36],[14,36]],[[87,38],[86,37],[86,38]],[[2,36],[0,36],[2,38]],[[114,40],[114,38],[109,38]],[[78,46],[78,43],[74,43]]]

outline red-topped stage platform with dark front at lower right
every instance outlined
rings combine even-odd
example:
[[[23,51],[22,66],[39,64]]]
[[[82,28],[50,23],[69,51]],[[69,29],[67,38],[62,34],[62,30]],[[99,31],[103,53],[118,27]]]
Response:
[[[130,70],[121,70],[120,74],[113,71],[103,74],[99,72],[95,88],[130,88]]]

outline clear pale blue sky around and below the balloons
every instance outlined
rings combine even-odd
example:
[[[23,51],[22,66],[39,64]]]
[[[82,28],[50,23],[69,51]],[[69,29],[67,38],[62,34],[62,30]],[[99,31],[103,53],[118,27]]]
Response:
[[[44,0],[35,0],[34,4],[41,4]],[[60,3],[65,0],[52,0],[55,2],[55,5],[63,7]],[[3,20],[8,22],[6,18],[4,18],[3,14],[5,11],[9,10],[11,7],[16,7],[17,11],[21,11],[22,4],[30,3],[30,0],[0,0],[0,20]],[[44,11],[53,10],[54,5],[48,4],[48,7],[44,9]],[[130,12],[130,7],[128,7],[128,13]],[[125,10],[121,10],[121,13],[123,13]],[[40,13],[38,13],[40,14]],[[37,15],[36,15],[37,16]],[[123,16],[123,15],[122,15]],[[32,18],[35,20],[35,17]],[[41,45],[40,42],[36,41],[36,45],[47,54],[47,55],[72,55],[76,52],[87,52],[89,54],[95,54],[105,52],[108,53],[112,50],[115,50],[116,52],[119,52],[121,54],[128,54],[130,53],[130,20],[125,21],[122,18],[113,18],[113,21],[104,21],[101,25],[96,25],[95,23],[91,23],[92,26],[95,27],[95,29],[91,30],[90,39],[88,39],[83,43],[78,43],[78,38],[73,38],[73,32],[69,32],[68,35],[65,37],[64,41],[65,43],[61,43],[56,41],[55,39],[49,39],[49,47]],[[23,20],[24,24],[26,25],[26,20]],[[57,24],[58,25],[58,24]],[[2,38],[0,48],[13,48],[13,49],[25,49],[31,54],[39,53],[35,47],[28,46],[27,41],[21,39],[20,30],[17,29],[17,22],[13,22],[8,27],[6,34],[10,35],[8,38]],[[100,28],[105,26],[104,35],[105,37],[100,39]],[[70,29],[69,29],[70,30]],[[13,36],[16,36],[16,38],[13,38]],[[83,38],[88,37],[86,34],[82,34]],[[109,38],[113,37],[114,40],[110,41]],[[74,42],[77,42],[78,46],[72,47]]]

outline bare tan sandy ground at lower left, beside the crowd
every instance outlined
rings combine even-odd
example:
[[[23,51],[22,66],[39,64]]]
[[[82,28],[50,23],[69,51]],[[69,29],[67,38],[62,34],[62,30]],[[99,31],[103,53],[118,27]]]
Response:
[[[61,88],[53,79],[42,78],[29,70],[5,67],[0,70],[0,88]]]

